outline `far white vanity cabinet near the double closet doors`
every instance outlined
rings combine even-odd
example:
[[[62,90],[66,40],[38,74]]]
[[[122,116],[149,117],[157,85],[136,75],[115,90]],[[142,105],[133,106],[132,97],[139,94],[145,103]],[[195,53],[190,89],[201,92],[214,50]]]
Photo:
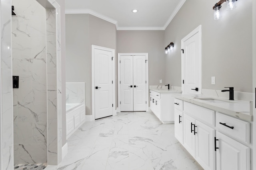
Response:
[[[150,109],[162,123],[174,123],[174,98],[171,94],[150,90]]]

